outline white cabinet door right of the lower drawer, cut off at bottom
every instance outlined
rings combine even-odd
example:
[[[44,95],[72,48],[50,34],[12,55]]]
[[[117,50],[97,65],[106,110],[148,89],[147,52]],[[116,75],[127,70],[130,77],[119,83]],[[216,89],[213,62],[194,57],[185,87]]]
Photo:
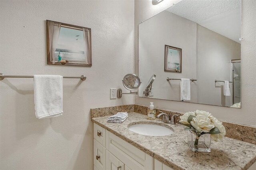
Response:
[[[124,170],[124,163],[106,150],[106,170]]]

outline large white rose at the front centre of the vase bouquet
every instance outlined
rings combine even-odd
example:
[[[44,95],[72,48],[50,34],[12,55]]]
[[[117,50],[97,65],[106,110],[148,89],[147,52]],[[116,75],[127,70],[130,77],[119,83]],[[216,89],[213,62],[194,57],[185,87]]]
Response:
[[[209,115],[209,114],[208,114]],[[206,114],[198,114],[196,117],[192,119],[190,122],[191,125],[196,128],[199,132],[206,132],[208,133],[212,128],[214,128],[214,124],[211,120],[207,117]]]

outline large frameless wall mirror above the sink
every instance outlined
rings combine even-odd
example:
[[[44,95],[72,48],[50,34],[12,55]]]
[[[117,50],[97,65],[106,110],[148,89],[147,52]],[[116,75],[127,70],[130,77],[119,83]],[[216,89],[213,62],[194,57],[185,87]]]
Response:
[[[139,97],[240,108],[240,34],[240,0],[181,0],[142,22]],[[166,45],[182,53],[166,52]],[[152,75],[152,93],[146,96]],[[190,79],[188,100],[181,99],[181,79]]]

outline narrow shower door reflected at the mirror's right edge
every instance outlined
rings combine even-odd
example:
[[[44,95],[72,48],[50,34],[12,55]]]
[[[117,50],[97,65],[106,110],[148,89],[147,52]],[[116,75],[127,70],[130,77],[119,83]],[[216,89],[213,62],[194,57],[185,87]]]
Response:
[[[232,60],[233,104],[241,102],[241,60]]]

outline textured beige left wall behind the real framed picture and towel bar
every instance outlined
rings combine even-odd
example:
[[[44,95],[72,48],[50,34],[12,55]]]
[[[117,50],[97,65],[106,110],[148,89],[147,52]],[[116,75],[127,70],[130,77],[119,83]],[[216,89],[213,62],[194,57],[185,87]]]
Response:
[[[46,20],[92,28],[92,67],[46,64]],[[87,76],[64,79],[63,115],[40,120],[33,79],[0,81],[0,169],[92,170],[90,108],[134,103],[133,95],[110,100],[134,72],[134,1],[1,0],[0,36],[1,73]]]

